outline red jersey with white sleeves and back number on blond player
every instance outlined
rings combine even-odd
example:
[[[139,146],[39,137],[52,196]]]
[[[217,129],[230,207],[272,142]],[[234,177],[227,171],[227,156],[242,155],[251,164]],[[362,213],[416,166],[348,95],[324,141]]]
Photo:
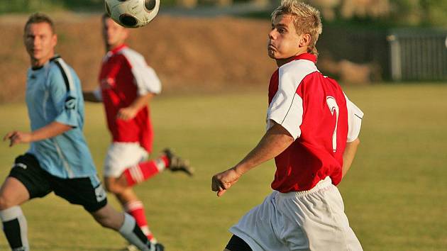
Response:
[[[309,190],[327,176],[338,184],[346,142],[360,132],[363,112],[315,62],[314,55],[298,55],[270,79],[267,130],[275,121],[294,138],[275,157],[272,189],[282,193]]]

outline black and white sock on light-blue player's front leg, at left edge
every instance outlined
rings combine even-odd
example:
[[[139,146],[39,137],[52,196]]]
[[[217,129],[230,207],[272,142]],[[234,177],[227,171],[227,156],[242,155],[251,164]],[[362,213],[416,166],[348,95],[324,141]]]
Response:
[[[30,250],[27,236],[28,225],[20,206],[13,206],[0,211],[0,218],[3,223],[6,240],[8,240],[11,249],[18,251]]]

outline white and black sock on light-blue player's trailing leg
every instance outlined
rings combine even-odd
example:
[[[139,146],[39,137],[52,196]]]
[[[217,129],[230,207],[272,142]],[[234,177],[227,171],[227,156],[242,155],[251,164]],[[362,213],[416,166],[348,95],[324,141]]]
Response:
[[[128,213],[124,213],[124,222],[118,231],[123,238],[131,244],[136,245],[140,250],[150,251],[150,242],[148,238],[138,227],[135,219]]]

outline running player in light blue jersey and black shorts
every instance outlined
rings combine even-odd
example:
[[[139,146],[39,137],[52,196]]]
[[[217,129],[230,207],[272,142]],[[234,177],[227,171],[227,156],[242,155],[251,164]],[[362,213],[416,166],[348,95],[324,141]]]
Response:
[[[35,13],[23,35],[31,59],[26,82],[26,105],[31,133],[13,130],[4,140],[10,146],[31,143],[16,158],[0,189],[0,218],[12,250],[30,250],[26,218],[19,205],[54,191],[82,205],[104,228],[111,228],[140,250],[162,251],[153,245],[127,213],[109,206],[82,134],[84,101],[75,71],[55,55],[57,35],[48,16]]]

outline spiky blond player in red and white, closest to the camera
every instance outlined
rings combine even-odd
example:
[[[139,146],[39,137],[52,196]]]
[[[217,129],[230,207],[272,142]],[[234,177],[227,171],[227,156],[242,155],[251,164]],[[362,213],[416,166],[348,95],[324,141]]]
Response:
[[[358,147],[363,112],[316,68],[319,11],[282,0],[272,13],[267,132],[236,166],[214,175],[222,196],[241,175],[275,158],[274,191],[230,229],[226,250],[362,250],[336,185]]]

